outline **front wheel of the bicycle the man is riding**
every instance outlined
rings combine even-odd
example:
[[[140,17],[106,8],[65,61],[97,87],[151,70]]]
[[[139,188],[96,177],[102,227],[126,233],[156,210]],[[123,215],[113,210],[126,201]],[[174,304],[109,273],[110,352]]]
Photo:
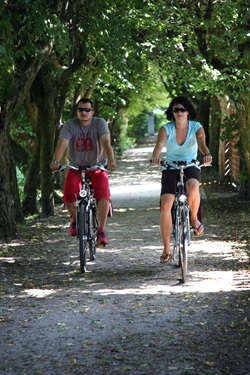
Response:
[[[78,239],[79,239],[79,255],[81,272],[86,271],[87,262],[87,215],[84,204],[79,207],[78,215]]]

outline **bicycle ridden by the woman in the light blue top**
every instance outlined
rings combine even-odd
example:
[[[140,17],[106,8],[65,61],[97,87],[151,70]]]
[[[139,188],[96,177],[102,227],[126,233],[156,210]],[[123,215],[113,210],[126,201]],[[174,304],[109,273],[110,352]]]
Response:
[[[176,169],[179,172],[178,189],[175,194],[172,206],[172,223],[174,247],[172,254],[172,262],[177,267],[181,267],[182,282],[187,280],[187,247],[191,242],[191,224],[190,224],[190,207],[188,205],[188,193],[185,188],[184,169],[194,165],[202,167],[202,162],[192,160],[187,164],[185,161],[177,161],[168,163],[161,161],[161,165],[166,168]],[[198,212],[198,219],[201,222],[201,206]]]

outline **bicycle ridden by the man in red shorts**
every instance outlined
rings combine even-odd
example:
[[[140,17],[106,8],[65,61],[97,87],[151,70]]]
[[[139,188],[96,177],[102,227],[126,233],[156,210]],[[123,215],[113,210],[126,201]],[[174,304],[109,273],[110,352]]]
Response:
[[[77,238],[79,240],[80,270],[83,273],[86,272],[87,249],[89,250],[90,261],[96,258],[98,230],[97,204],[90,180],[91,176],[85,172],[98,169],[105,171],[106,168],[101,164],[96,164],[91,167],[74,167],[69,164],[61,165],[57,171],[62,172],[68,169],[81,171],[81,189],[79,197],[76,197],[76,228]]]

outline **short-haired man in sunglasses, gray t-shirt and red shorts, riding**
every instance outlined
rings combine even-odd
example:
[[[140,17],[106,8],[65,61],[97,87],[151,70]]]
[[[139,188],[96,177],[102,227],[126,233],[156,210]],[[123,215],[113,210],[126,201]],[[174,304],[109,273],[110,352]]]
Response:
[[[69,162],[75,167],[107,163],[107,169],[111,171],[116,169],[108,125],[103,118],[93,116],[92,101],[88,98],[80,99],[77,103],[77,118],[68,120],[61,130],[54,160],[50,164],[53,171],[59,168],[66,149],[68,149]],[[108,173],[96,170],[91,171],[90,175],[98,204],[97,243],[105,246],[108,244],[105,226],[110,206]],[[65,179],[64,203],[71,215],[68,230],[71,236],[76,236],[76,196],[79,195],[80,184],[81,171],[70,169]]]

